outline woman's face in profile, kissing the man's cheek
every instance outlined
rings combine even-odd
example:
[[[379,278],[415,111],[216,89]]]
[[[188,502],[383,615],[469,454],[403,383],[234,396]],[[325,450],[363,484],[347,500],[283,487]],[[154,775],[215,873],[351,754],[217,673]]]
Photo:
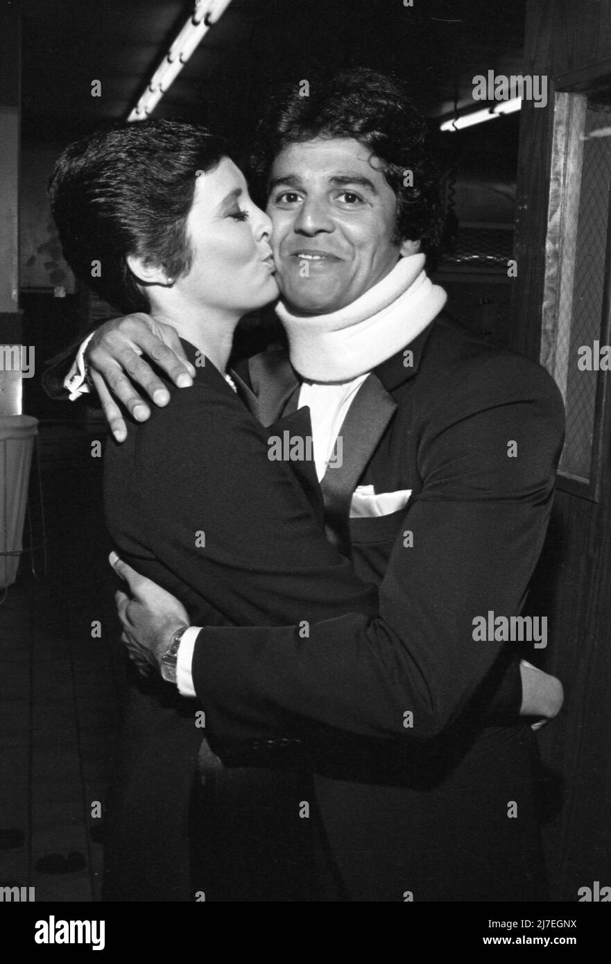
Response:
[[[196,181],[187,232],[193,250],[188,275],[174,287],[189,301],[245,314],[278,297],[270,247],[272,223],[254,204],[244,174],[224,157]]]

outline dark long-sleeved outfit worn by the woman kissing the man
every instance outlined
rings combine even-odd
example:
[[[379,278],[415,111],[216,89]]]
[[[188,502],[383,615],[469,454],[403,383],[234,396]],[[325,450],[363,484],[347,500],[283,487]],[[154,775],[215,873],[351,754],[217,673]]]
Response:
[[[307,413],[291,424],[306,429]],[[375,586],[330,546],[307,479],[269,460],[267,437],[214,365],[198,368],[192,388],[173,390],[167,409],[107,445],[105,514],[117,549],[196,624],[375,615]],[[187,850],[200,710],[173,685],[133,681],[107,812],[106,899],[195,899],[208,889],[191,881]]]

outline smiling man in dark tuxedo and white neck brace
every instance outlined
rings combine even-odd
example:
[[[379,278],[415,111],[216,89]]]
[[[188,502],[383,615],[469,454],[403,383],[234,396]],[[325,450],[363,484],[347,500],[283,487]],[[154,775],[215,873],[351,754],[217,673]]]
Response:
[[[271,459],[312,440],[320,489],[311,471],[305,485],[329,539],[379,586],[379,618],[183,631],[184,610],[136,576],[121,613],[132,653],[197,695],[228,755],[307,744],[325,899],[536,899],[535,748],[518,710],[533,709],[533,680],[544,715],[559,694],[528,667],[520,687],[514,630],[546,644],[516,617],[545,537],[562,405],[539,365],[444,314],[419,254],[438,234],[421,140],[379,74],[279,104],[255,168],[269,173],[290,363],[266,353],[236,373],[270,426]],[[134,343],[161,347],[137,325],[106,326],[90,349],[132,413],[142,402],[121,366],[151,397],[167,390],[134,367]],[[154,357],[175,380],[176,358]]]

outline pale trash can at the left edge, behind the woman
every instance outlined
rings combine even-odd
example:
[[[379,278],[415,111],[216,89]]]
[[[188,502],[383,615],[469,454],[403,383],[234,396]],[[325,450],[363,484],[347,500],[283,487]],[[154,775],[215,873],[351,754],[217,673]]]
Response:
[[[39,420],[31,415],[0,418],[0,588],[11,586],[23,549],[23,520]]]

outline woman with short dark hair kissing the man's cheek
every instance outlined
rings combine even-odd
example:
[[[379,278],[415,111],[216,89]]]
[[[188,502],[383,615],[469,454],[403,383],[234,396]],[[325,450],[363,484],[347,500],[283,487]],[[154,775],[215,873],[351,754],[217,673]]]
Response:
[[[50,198],[75,274],[121,310],[173,325],[197,371],[192,388],[169,386],[172,405],[107,447],[106,521],[122,558],[208,625],[374,615],[376,591],[332,549],[305,494],[313,464],[270,461],[269,433],[226,375],[239,318],[278,287],[271,223],[223,142],[171,120],[96,133],[66,148]],[[304,429],[297,419],[293,433]],[[292,771],[224,768],[207,744],[215,801],[204,801],[205,853],[190,879],[198,711],[158,678],[133,681],[106,821],[105,898],[304,899]]]

